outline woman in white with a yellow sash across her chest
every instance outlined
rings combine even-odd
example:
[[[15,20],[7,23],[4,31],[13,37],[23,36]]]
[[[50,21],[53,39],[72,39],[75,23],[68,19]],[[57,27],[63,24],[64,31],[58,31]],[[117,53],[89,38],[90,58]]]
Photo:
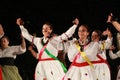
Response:
[[[89,33],[88,26],[81,25],[78,29],[79,39],[68,42],[66,50],[72,64],[64,80],[110,80],[109,77],[107,79],[102,77],[102,73],[98,74],[98,70],[101,70],[99,66],[102,65],[99,63],[104,63],[104,60],[97,56],[100,50],[98,40],[90,42]],[[107,75],[107,72],[104,75]]]

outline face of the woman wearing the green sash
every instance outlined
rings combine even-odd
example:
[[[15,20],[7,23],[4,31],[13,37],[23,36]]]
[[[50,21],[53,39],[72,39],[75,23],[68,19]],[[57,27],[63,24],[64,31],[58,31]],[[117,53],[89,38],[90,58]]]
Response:
[[[42,28],[42,33],[44,35],[44,37],[50,37],[51,36],[51,33],[52,33],[52,28],[51,28],[51,25],[48,25],[48,24],[44,24],[43,25],[43,28]]]

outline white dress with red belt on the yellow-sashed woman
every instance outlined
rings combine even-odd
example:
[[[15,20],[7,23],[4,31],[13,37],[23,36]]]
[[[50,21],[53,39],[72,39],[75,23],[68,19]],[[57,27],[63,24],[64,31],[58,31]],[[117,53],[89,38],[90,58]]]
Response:
[[[99,49],[99,42],[90,42],[84,47],[86,56],[93,64],[91,67],[79,53],[74,41],[70,41],[67,53],[72,65],[64,76],[64,80],[110,80],[108,65],[105,64],[105,60],[97,56]]]

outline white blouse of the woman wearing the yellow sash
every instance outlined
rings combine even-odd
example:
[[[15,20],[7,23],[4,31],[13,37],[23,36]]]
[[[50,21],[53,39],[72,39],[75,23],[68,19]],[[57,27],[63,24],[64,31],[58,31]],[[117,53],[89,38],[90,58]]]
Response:
[[[72,62],[76,55],[79,53],[79,50],[77,49],[76,44],[74,43],[73,40],[67,43],[69,43],[69,45],[68,44],[66,45],[67,48],[66,52],[68,54],[69,60]],[[87,46],[84,47],[84,53],[91,61],[98,60],[96,56],[98,54],[98,51],[99,51],[98,42],[90,42]],[[76,62],[85,62],[85,60],[82,58],[82,56],[80,56],[79,58],[77,58]]]

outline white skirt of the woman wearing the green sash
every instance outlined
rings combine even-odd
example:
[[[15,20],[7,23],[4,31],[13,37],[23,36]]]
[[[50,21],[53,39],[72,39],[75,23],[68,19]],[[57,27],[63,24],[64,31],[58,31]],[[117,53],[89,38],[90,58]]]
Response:
[[[62,80],[64,75],[58,60],[39,61],[35,70],[35,80]]]

